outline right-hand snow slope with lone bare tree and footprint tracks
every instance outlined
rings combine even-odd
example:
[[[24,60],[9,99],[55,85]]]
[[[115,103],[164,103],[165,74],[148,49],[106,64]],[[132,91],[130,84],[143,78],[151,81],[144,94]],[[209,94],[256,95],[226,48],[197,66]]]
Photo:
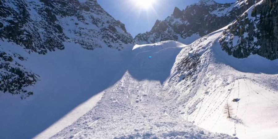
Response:
[[[184,119],[209,131],[247,139],[277,138],[278,61],[259,55],[229,56],[221,50],[222,36],[223,29],[179,53],[164,85],[170,107],[178,106]]]

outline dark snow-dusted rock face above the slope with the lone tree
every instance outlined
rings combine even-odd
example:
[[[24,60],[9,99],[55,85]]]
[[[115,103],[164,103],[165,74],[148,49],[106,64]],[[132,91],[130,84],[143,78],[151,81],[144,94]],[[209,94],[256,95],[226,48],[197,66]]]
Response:
[[[265,0],[240,16],[220,39],[223,50],[237,58],[258,54],[278,58],[278,1]]]

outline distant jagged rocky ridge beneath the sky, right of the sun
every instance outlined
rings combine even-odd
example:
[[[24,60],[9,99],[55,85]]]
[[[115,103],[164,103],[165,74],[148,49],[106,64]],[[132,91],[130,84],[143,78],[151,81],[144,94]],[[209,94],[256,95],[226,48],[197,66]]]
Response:
[[[163,21],[157,20],[150,32],[138,34],[135,40],[138,44],[151,44],[164,40],[177,40],[190,44],[204,35],[225,27],[253,4],[255,0],[238,0],[226,4],[213,0],[200,0],[182,11],[176,7],[171,16]]]

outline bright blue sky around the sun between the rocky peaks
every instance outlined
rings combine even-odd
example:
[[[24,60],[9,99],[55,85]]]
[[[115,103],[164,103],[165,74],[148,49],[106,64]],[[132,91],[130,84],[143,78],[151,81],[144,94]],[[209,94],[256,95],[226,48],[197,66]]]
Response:
[[[150,31],[157,19],[164,20],[171,15],[175,7],[185,9],[187,5],[199,0],[155,0],[153,8],[140,8],[136,0],[97,0],[116,20],[125,24],[127,31],[134,37],[138,33]],[[133,2],[132,2],[133,1]],[[235,2],[236,0],[215,0],[219,3]]]

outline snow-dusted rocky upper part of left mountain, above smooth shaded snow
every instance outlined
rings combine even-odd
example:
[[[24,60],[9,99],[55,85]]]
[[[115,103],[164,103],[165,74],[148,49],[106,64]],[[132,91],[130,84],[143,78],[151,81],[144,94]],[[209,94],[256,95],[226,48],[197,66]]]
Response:
[[[124,24],[96,0],[4,0],[0,7],[0,38],[32,52],[63,49],[62,42],[69,38],[87,49],[99,48],[103,43],[120,50],[122,44],[133,43]]]

